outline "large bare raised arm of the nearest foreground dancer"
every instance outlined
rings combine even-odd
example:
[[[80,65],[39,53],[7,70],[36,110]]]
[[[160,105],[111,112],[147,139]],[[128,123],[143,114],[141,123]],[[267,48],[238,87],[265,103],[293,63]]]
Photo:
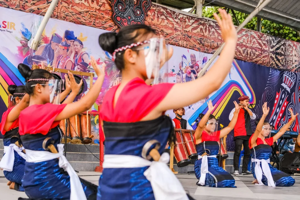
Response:
[[[219,58],[211,69],[201,78],[195,81],[175,84],[164,100],[155,108],[157,111],[163,112],[173,108],[184,107],[207,97],[221,86],[227,74],[230,72],[235,54],[237,35],[230,14],[227,14],[226,11],[222,9],[219,9],[219,13],[221,14],[222,20],[216,13],[214,13],[214,17],[220,26],[225,42],[224,49]],[[199,91],[195,92],[195,88],[198,88]],[[203,89],[201,90],[200,88]],[[178,99],[178,91],[181,91],[181,95],[185,98]],[[174,99],[176,99],[176,101],[174,101]]]

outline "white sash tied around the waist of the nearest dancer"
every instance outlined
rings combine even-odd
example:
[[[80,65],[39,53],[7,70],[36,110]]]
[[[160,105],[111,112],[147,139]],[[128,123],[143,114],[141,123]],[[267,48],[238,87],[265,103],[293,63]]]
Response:
[[[170,155],[163,153],[158,162],[132,155],[104,155],[103,168],[138,168],[150,166],[144,175],[151,183],[155,200],[188,200],[181,183],[167,166]]]

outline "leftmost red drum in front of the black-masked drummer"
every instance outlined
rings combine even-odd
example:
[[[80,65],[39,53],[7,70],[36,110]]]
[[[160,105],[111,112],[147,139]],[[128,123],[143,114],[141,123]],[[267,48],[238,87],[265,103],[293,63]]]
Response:
[[[192,161],[188,158],[187,151],[180,131],[175,131],[176,142],[174,145],[174,156],[178,167],[189,165]]]

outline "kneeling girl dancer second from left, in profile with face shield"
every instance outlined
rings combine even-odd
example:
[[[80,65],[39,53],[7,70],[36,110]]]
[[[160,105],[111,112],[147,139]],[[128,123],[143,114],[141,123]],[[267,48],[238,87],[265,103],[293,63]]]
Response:
[[[26,65],[18,66],[30,95],[29,106],[19,116],[19,132],[27,157],[22,184],[26,195],[32,199],[96,198],[97,186],[78,178],[64,157],[64,145],[59,144],[62,131],[58,127],[61,120],[88,110],[99,96],[104,72],[95,59],[91,63],[98,76],[93,87],[80,101],[61,105],[52,104],[58,96],[53,98],[52,95],[57,88],[52,86],[55,81],[51,73],[43,69],[30,70]],[[72,77],[71,73],[68,75]],[[47,151],[49,149],[52,153]]]

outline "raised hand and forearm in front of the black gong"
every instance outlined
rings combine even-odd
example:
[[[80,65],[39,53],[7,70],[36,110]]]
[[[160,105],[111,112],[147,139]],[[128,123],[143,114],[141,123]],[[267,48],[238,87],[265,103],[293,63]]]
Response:
[[[81,87],[81,85],[83,83],[82,79],[81,79],[80,83],[77,84],[76,81],[75,81],[75,78],[74,78],[73,74],[70,73],[70,72],[68,72],[68,75],[70,77],[70,80],[68,79],[67,74],[64,75],[64,79],[65,79],[65,82],[66,82],[66,90],[65,91],[68,91],[67,94],[69,94],[71,90],[72,90],[72,92],[69,94],[69,96],[61,104],[72,103],[74,101],[75,97],[77,96],[77,94],[78,94],[78,92],[80,90],[80,87]],[[67,96],[67,94],[66,94],[66,96]],[[63,99],[63,98],[61,98],[61,99]]]

